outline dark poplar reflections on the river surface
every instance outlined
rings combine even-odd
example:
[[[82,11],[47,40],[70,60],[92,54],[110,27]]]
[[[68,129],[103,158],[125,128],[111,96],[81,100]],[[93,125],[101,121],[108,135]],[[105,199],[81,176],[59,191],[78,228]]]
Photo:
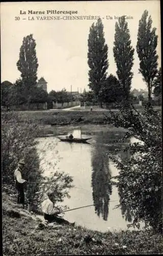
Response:
[[[115,132],[100,132],[96,134],[96,142],[92,147],[92,188],[93,188],[93,201],[95,204],[95,212],[98,216],[102,216],[103,220],[107,220],[110,195],[112,194],[111,185],[111,170],[109,168],[108,155],[119,156],[123,164],[130,158],[129,152],[124,152],[123,148],[126,143],[130,143],[127,139],[125,142],[118,143],[124,134]],[[117,143],[116,143],[117,142]],[[125,188],[124,188],[125,189]],[[118,194],[120,201],[124,196],[124,191],[118,187]],[[122,216],[125,216],[126,221],[132,221],[132,214],[129,207],[123,205],[121,207]]]

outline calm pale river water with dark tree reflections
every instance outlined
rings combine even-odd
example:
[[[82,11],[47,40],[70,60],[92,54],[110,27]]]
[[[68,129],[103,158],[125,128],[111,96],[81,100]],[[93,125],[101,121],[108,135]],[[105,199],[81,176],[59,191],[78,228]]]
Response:
[[[83,125],[82,137],[91,137],[89,144],[62,142],[56,136],[70,133],[80,138],[79,126],[54,127],[53,137],[38,138],[38,152],[44,175],[49,176],[55,170],[64,171],[73,177],[74,187],[70,189],[70,199],[65,198],[63,205],[76,208],[94,204],[87,208],[65,212],[64,218],[87,228],[108,231],[125,230],[127,222],[122,215],[118,190],[111,185],[111,177],[118,175],[118,169],[108,159],[108,154],[119,156],[122,161],[128,159],[123,148],[131,141],[123,143],[123,129],[111,125]],[[48,163],[48,164],[47,164]]]

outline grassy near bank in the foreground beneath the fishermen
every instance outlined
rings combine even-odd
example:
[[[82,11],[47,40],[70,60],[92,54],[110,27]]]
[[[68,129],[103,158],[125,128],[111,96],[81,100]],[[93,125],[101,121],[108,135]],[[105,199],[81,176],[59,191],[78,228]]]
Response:
[[[39,221],[20,212],[14,195],[3,193],[3,255],[162,254],[162,235],[152,231],[99,232],[81,226],[35,229]],[[22,212],[22,210],[21,210]],[[19,217],[20,218],[19,218]]]

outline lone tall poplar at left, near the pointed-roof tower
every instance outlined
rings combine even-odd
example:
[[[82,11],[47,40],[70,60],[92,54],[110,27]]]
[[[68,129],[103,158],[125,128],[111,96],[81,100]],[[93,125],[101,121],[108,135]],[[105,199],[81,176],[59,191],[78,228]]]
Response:
[[[23,38],[17,68],[21,73],[25,86],[31,88],[36,85],[38,61],[36,57],[36,42],[32,34]]]

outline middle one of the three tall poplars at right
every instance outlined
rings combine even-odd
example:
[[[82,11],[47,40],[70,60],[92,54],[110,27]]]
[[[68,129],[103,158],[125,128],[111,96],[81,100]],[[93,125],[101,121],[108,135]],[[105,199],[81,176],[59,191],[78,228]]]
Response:
[[[117,65],[117,76],[123,89],[124,99],[129,98],[131,79],[133,73],[131,72],[133,66],[134,49],[131,46],[129,29],[125,16],[119,18],[115,27],[115,41],[114,41],[114,58]]]

